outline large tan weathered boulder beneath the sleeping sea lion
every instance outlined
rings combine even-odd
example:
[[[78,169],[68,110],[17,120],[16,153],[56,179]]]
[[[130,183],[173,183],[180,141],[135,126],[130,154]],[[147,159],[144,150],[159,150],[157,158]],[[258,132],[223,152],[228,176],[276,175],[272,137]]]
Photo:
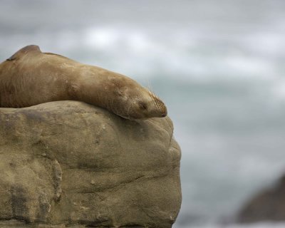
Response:
[[[172,227],[172,132],[76,101],[0,108],[0,227]]]

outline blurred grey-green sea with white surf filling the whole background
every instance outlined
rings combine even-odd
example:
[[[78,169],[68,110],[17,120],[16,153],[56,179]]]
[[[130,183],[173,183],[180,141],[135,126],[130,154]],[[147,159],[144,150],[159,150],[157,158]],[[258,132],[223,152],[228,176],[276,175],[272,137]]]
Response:
[[[222,226],[285,172],[285,1],[0,3],[0,58],[28,44],[165,100],[182,147],[174,227]],[[283,224],[284,225],[284,224]],[[282,227],[255,224],[250,227]]]

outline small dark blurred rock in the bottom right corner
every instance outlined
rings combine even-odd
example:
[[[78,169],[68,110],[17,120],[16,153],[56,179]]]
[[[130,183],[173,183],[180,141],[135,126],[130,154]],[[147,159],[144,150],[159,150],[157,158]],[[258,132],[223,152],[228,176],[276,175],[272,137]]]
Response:
[[[285,176],[277,185],[254,196],[244,206],[238,222],[285,221]]]

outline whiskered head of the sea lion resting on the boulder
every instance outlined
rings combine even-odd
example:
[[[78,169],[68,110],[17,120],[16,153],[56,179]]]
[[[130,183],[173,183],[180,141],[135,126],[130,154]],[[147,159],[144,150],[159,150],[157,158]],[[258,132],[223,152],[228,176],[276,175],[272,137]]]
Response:
[[[115,89],[112,110],[115,114],[129,120],[144,120],[147,118],[163,118],[167,115],[165,104],[154,93],[143,88],[135,81],[128,78],[124,86]]]

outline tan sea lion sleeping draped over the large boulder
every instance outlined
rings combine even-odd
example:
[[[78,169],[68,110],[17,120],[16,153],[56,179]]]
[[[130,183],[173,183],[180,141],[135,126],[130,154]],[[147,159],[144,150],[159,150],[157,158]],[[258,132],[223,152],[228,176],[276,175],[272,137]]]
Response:
[[[123,118],[165,117],[150,90],[119,73],[26,46],[0,64],[0,107],[23,108],[56,100],[81,100]]]

